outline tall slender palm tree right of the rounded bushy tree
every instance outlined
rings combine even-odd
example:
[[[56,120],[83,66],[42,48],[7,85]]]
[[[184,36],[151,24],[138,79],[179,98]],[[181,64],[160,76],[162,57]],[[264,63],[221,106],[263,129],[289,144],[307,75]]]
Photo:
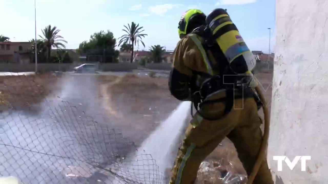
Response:
[[[142,34],[144,31],[143,27],[139,27],[139,24],[135,24],[134,22],[128,24],[128,27],[124,25],[125,29],[122,29],[126,34],[119,37],[118,46],[122,44],[132,44],[132,52],[131,52],[131,59],[130,63],[133,61],[133,50],[134,46],[137,45],[139,47],[139,42],[145,47],[145,44],[142,41],[142,38],[145,38],[145,36],[148,36],[147,34]]]

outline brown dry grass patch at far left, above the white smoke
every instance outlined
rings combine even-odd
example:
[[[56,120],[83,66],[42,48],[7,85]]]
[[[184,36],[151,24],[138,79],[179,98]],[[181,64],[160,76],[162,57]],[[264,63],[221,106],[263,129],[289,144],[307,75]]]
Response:
[[[24,107],[40,103],[56,89],[58,77],[51,73],[0,76],[0,105]]]

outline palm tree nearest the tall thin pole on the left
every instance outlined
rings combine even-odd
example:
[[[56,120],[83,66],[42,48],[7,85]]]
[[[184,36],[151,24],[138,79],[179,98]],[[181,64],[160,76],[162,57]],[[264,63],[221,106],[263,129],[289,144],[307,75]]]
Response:
[[[47,47],[47,52],[48,52],[47,60],[48,60],[48,62],[49,62],[50,56],[51,56],[51,47],[66,48],[66,46],[62,42],[67,44],[67,41],[64,40],[64,38],[62,36],[58,35],[59,32],[60,32],[60,30],[57,29],[56,26],[51,27],[51,25],[49,25],[46,28],[42,29],[43,36],[39,35],[40,38],[43,40],[45,46]]]

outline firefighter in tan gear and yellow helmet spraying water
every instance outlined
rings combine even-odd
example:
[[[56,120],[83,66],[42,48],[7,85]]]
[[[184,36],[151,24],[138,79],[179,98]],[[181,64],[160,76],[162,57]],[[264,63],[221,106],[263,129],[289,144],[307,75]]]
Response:
[[[228,26],[220,27],[215,20]],[[239,54],[228,47],[229,52],[223,52],[221,38],[229,31],[242,47],[237,50]],[[247,174],[252,172],[262,142],[262,120],[257,113],[262,104],[252,90],[257,86],[251,73],[255,63],[236,31],[223,9],[208,16],[199,9],[190,9],[180,19],[180,41],[174,50],[169,89],[176,99],[192,101],[197,111],[178,150],[170,184],[194,183],[201,162],[225,137],[234,143]],[[221,40],[215,41],[217,36]],[[223,40],[223,44],[229,42],[233,41]],[[229,58],[226,53],[238,55]],[[254,184],[273,183],[265,159]]]

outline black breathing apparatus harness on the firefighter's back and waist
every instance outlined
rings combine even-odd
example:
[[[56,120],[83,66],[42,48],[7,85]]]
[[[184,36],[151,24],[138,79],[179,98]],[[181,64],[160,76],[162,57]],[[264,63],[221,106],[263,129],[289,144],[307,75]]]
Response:
[[[212,38],[212,33],[207,26],[201,26],[192,31],[192,33],[203,38],[202,46],[209,57],[209,52],[213,54],[216,63],[210,61],[213,70],[218,71],[216,75],[193,71],[193,77],[189,83],[191,89],[191,101],[197,113],[207,120],[218,120],[220,117],[206,117],[201,113],[201,107],[205,104],[225,102],[223,116],[229,114],[234,105],[234,99],[254,97],[257,103],[257,109],[260,109],[263,103],[259,100],[256,92],[249,86],[249,76],[236,75],[232,71],[227,59],[223,55],[220,47]],[[207,100],[206,98],[216,92],[225,91],[226,97],[215,100]],[[199,108],[198,108],[199,107]],[[193,107],[191,107],[191,115],[193,116]]]

